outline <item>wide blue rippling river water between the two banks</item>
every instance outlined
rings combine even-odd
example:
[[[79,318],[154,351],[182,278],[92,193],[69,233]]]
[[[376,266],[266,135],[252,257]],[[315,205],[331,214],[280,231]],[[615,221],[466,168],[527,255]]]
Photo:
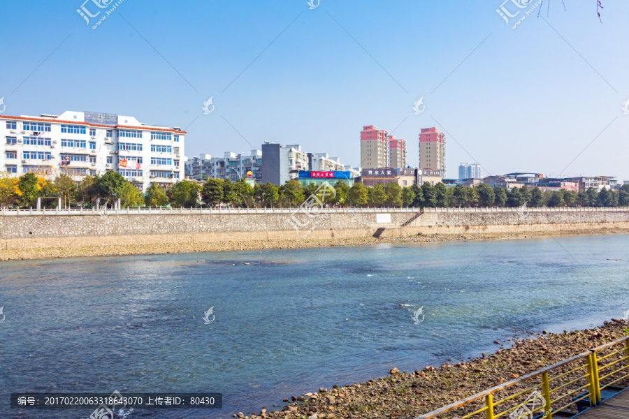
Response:
[[[231,418],[588,328],[629,309],[627,249],[610,235],[1,263],[0,416],[91,413],[9,409],[11,392],[119,390],[224,394],[221,410],[128,419]]]

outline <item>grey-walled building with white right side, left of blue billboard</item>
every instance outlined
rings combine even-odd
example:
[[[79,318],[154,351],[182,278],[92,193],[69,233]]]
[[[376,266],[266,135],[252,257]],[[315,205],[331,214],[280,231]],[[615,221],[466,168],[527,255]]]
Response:
[[[262,145],[261,182],[283,185],[296,179],[299,170],[310,170],[308,154],[301,151],[301,145],[277,144],[265,141]]]

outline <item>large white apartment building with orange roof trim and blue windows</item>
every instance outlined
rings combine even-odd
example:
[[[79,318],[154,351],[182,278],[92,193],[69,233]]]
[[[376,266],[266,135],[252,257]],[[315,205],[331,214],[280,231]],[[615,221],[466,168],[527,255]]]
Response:
[[[152,182],[168,186],[183,179],[185,135],[178,127],[102,112],[0,115],[0,170],[65,173],[75,181],[115,170],[145,191]]]

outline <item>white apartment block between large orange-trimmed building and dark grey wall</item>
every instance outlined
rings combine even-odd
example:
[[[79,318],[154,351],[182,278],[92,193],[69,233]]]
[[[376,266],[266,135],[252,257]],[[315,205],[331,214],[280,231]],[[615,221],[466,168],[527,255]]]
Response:
[[[251,176],[248,173],[251,172]],[[186,176],[194,179],[230,179],[237,182],[238,179],[253,179],[260,182],[262,179],[262,152],[253,149],[249,156],[226,152],[224,157],[214,157],[210,154],[201,154],[193,157],[186,163]]]

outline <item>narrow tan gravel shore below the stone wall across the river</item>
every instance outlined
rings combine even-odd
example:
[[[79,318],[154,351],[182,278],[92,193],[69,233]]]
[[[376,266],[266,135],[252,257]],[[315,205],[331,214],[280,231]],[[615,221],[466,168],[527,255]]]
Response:
[[[189,242],[154,244],[117,244],[90,247],[41,247],[36,249],[0,249],[0,261],[47,258],[77,258],[89,256],[129,256],[166,253],[195,253],[213,251],[246,251],[269,249],[305,249],[333,246],[370,246],[382,243],[427,243],[427,242],[468,242],[475,240],[512,240],[534,237],[563,237],[568,235],[629,234],[629,230],[595,229],[554,232],[554,233],[469,233],[469,234],[424,234],[408,237],[352,237],[327,240],[256,240],[252,242]]]

